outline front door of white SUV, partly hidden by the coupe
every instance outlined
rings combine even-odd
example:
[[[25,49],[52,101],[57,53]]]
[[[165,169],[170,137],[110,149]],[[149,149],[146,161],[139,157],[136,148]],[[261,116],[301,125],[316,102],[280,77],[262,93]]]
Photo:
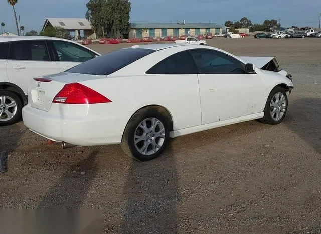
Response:
[[[72,42],[48,40],[60,72],[96,57],[92,51]]]

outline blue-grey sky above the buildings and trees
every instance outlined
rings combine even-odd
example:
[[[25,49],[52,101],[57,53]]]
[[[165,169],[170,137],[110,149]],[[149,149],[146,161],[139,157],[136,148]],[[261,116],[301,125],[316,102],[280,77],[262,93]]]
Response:
[[[25,32],[39,32],[46,18],[85,18],[89,0],[18,0],[17,18]],[[239,21],[247,17],[252,23],[266,19],[280,19],[283,27],[318,27],[320,0],[131,0],[130,22],[202,22],[224,25],[227,20]],[[16,33],[12,6],[0,2],[0,22],[5,30]]]

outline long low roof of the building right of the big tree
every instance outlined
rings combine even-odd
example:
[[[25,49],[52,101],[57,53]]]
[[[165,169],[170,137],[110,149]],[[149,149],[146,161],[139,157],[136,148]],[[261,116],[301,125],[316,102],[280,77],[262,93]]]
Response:
[[[132,29],[198,29],[198,28],[223,28],[216,23],[130,23]]]

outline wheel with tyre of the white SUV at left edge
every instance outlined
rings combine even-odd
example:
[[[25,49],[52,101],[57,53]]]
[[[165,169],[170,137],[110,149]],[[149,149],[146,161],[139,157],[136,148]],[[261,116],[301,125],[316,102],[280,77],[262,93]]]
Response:
[[[21,118],[22,104],[14,93],[0,90],[0,126],[11,125]]]

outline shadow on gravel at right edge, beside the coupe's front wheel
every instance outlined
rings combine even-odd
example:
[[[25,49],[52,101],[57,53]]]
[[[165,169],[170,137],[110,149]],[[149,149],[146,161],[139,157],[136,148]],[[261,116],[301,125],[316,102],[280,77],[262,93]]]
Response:
[[[321,99],[291,101],[284,123],[317,153],[321,153]]]

